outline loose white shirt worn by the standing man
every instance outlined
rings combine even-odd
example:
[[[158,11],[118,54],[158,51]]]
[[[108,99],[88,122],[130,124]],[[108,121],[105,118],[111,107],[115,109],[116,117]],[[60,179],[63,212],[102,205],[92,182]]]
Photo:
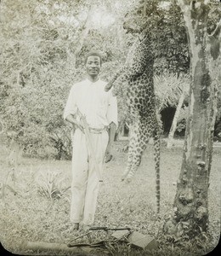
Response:
[[[88,126],[103,129],[114,122],[117,125],[117,103],[112,90],[105,91],[104,81],[91,82],[89,79],[74,84],[66,102],[64,119],[79,111],[85,115]]]

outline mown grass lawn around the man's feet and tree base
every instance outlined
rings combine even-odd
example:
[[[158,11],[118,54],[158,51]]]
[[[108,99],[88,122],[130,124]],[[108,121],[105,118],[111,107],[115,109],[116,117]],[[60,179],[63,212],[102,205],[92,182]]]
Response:
[[[161,213],[156,214],[155,172],[152,145],[145,151],[139,171],[129,184],[120,177],[127,162],[122,151],[125,142],[115,144],[114,159],[105,164],[104,182],[100,183],[98,207],[94,226],[130,227],[144,235],[156,238],[157,248],[151,254],[126,243],[107,243],[110,255],[203,255],[216,247],[220,234],[220,166],[221,148],[215,148],[209,188],[210,238],[198,241],[177,241],[163,236],[161,229],[173,208],[182,148],[162,148],[161,152]],[[0,148],[0,183],[9,173],[6,151]],[[83,234],[72,232],[69,220],[71,190],[71,161],[21,160],[16,170],[16,183],[8,176],[8,185],[17,194],[5,188],[0,199],[0,239],[3,246],[14,253],[52,255],[52,252],[24,250],[24,241],[68,243]],[[110,233],[111,234],[111,233]],[[93,231],[92,241],[107,239],[102,230]],[[78,242],[88,242],[88,236]],[[99,251],[95,251],[98,255]],[[61,253],[62,254],[62,253]],[[59,255],[55,253],[54,255]]]

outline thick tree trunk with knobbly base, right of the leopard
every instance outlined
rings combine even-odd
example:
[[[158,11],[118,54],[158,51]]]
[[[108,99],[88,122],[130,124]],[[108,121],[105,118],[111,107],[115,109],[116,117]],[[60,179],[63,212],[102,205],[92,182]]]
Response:
[[[190,108],[173,216],[167,220],[164,231],[190,238],[206,232],[208,227],[208,186],[217,101],[210,62],[218,61],[220,44],[216,45],[216,54],[211,55],[217,41],[207,36],[206,2],[178,0],[184,10],[190,45]]]

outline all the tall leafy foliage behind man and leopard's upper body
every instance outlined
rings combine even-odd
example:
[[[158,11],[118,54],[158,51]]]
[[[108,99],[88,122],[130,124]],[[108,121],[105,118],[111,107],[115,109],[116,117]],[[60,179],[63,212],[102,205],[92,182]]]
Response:
[[[1,124],[8,140],[14,137],[22,143],[27,155],[70,159],[71,129],[62,114],[71,84],[84,77],[82,62],[90,49],[103,55],[102,79],[110,79],[122,66],[137,37],[127,32],[128,20],[145,23],[152,32],[156,75],[167,76],[166,70],[188,73],[184,20],[174,3],[163,7],[153,0],[9,0],[0,4]],[[212,9],[211,29],[217,16],[218,10]],[[125,86],[120,86],[118,96],[120,120]]]

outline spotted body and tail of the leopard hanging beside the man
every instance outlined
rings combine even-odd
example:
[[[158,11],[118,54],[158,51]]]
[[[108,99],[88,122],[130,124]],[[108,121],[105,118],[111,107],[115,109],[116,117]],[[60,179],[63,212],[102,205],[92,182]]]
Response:
[[[113,84],[121,84],[127,80],[127,111],[131,120],[127,167],[122,180],[130,182],[137,171],[144,149],[150,137],[153,137],[156,168],[156,201],[157,212],[160,211],[160,148],[161,125],[156,110],[156,97],[153,81],[154,55],[151,35],[147,31],[139,33],[127,54],[125,65],[117,72],[105,90]],[[117,81],[117,83],[116,83]]]

